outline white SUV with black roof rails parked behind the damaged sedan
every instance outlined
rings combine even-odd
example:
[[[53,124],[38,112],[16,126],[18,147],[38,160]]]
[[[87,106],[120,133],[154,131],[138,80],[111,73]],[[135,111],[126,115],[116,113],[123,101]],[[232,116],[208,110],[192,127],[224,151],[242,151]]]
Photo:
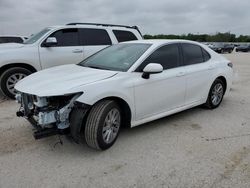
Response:
[[[1,44],[1,90],[14,98],[15,84],[33,72],[76,64],[109,45],[139,39],[142,36],[136,26],[70,23],[45,28],[24,44]]]

